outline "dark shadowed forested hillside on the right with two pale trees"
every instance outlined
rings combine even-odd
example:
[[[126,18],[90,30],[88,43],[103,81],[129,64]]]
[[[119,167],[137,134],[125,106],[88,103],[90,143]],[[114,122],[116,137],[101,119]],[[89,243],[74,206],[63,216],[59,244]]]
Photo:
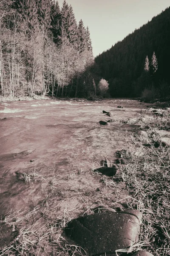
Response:
[[[112,97],[170,95],[170,7],[95,62]]]

